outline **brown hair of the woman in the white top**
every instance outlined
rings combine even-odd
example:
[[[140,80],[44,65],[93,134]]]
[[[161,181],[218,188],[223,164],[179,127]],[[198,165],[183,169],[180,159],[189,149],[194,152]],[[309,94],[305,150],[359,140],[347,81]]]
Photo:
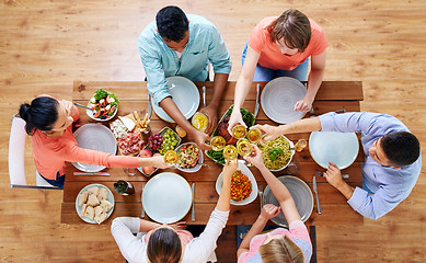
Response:
[[[149,238],[147,255],[151,263],[177,263],[182,255],[181,239],[170,228],[158,228]]]

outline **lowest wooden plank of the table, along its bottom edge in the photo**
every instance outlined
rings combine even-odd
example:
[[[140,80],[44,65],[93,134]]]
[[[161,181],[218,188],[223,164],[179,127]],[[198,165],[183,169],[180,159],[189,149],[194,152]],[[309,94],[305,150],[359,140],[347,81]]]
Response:
[[[187,225],[206,225],[210,218],[211,211],[215,209],[216,204],[195,204],[195,222],[191,220],[191,213],[188,213],[182,220]],[[324,204],[321,205],[323,210],[322,215],[318,215],[314,210],[311,217],[307,220],[307,225],[315,226],[360,226],[364,224],[364,218],[356,213],[347,204]],[[103,224],[110,225],[115,217],[140,217],[141,213],[140,203],[116,203],[112,216]],[[77,215],[74,203],[61,204],[61,218],[62,224],[85,224]],[[231,205],[231,211],[227,225],[252,225],[260,213],[260,204],[252,203],[245,206]],[[146,218],[149,220],[149,216]]]

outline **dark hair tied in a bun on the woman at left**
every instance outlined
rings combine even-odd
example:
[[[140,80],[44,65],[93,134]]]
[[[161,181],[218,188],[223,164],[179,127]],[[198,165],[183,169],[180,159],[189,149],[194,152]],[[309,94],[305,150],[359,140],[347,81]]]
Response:
[[[26,122],[25,130],[33,135],[36,129],[50,130],[58,119],[59,102],[50,96],[38,96],[31,102],[21,104],[20,116]]]

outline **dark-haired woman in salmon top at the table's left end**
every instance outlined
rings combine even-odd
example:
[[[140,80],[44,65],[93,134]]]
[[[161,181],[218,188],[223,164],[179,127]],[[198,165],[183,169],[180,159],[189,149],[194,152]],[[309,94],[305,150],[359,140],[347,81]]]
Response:
[[[42,95],[31,104],[22,104],[20,116],[26,122],[26,133],[32,136],[35,167],[51,185],[64,186],[66,161],[108,168],[169,167],[161,156],[124,157],[79,148],[72,134],[72,123],[79,118],[79,111],[69,101],[59,102]]]

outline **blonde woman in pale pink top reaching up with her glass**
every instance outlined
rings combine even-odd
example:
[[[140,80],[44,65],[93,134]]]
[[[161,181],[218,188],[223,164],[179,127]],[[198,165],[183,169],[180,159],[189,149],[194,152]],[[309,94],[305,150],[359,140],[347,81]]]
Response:
[[[308,229],[301,221],[295,201],[287,187],[270,173],[263,163],[262,151],[255,146],[254,157],[244,157],[253,163],[265,178],[279,207],[267,204],[263,207],[257,220],[244,237],[237,251],[238,262],[296,262],[308,263],[312,255],[312,244]],[[277,228],[261,235],[266,222],[283,210],[289,224],[289,230]]]

